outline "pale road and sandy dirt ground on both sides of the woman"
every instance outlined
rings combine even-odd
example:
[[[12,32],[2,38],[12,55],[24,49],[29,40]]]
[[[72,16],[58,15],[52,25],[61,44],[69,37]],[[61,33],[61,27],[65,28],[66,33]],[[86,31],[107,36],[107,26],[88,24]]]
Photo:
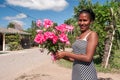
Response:
[[[52,63],[38,48],[0,54],[0,80],[71,80],[71,69]],[[120,80],[120,74],[99,73],[98,77]]]

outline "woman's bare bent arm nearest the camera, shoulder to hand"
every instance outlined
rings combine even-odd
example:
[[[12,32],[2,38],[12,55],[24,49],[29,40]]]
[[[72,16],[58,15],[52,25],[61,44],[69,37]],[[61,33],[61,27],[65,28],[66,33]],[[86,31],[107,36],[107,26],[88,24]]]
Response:
[[[67,56],[75,60],[90,62],[93,59],[93,55],[96,50],[97,44],[98,44],[97,33],[92,32],[88,37],[86,54],[73,54],[71,52],[60,52],[56,55],[56,57],[59,59],[63,58],[64,56]]]

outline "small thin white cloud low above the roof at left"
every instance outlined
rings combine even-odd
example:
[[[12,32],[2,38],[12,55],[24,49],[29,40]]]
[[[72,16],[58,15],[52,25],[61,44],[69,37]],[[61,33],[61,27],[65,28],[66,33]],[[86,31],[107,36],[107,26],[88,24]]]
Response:
[[[24,13],[20,13],[16,16],[6,16],[4,19],[5,20],[20,20],[20,19],[24,19],[27,18],[27,15]]]

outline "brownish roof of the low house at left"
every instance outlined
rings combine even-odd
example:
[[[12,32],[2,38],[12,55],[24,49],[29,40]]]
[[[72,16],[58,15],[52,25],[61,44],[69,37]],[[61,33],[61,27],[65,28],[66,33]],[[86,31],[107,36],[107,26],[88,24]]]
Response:
[[[17,29],[13,29],[13,28],[1,28],[1,27],[0,27],[0,33],[30,35],[30,33],[27,33],[27,32],[24,32],[24,31],[20,31],[20,30],[17,30]]]

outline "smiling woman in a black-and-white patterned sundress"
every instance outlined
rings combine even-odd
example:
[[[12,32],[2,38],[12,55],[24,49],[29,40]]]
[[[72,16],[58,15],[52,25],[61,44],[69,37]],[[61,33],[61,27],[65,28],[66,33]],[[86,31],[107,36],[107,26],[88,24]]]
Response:
[[[80,11],[78,24],[81,34],[72,45],[74,54],[62,51],[56,55],[57,59],[73,61],[72,80],[97,80],[93,55],[98,44],[98,35],[90,29],[94,20],[95,14],[91,9]]]

